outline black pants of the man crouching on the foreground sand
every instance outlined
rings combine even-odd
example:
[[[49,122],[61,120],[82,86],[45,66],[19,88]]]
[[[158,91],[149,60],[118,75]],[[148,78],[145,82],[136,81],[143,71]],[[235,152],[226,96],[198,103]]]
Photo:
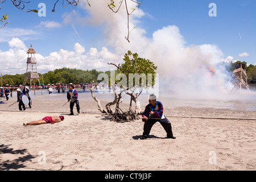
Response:
[[[164,130],[166,130],[167,137],[173,137],[172,125],[171,125],[171,122],[167,118],[160,119],[160,120],[147,119],[147,121],[144,122],[144,127],[143,127],[143,136],[144,137],[148,137],[152,126],[155,125],[156,122],[159,122],[163,126]]]

